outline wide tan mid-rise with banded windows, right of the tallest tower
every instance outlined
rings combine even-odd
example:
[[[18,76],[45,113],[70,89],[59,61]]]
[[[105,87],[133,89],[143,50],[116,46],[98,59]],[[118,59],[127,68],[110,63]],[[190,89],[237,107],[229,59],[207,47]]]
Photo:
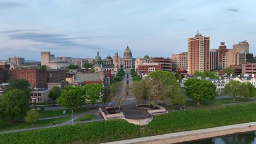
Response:
[[[230,65],[240,65],[246,63],[246,53],[236,52],[234,49],[230,49],[222,56],[222,67],[230,67]]]

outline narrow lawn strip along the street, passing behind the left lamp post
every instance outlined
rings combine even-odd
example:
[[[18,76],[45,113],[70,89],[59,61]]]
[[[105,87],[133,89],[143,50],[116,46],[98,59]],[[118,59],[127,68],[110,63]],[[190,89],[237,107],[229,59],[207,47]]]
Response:
[[[64,109],[62,110],[49,110],[49,111],[40,111],[41,117],[55,117],[55,116],[64,116],[64,115],[71,115],[71,110],[70,109],[65,109],[66,113],[63,114]],[[76,110],[73,110],[73,113],[83,113],[86,112],[87,108],[82,107],[78,108]]]

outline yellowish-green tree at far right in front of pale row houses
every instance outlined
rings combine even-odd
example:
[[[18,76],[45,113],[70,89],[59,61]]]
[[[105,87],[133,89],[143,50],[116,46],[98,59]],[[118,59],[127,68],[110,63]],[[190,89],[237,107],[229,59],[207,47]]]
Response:
[[[223,88],[223,91],[225,94],[232,96],[233,101],[236,100],[237,96],[240,97],[246,97],[245,94],[242,91],[247,91],[247,89],[244,86],[240,86],[241,82],[240,81],[230,81],[229,83],[226,83],[225,87]],[[241,88],[245,88],[245,89],[241,89]],[[249,94],[248,94],[249,95]]]

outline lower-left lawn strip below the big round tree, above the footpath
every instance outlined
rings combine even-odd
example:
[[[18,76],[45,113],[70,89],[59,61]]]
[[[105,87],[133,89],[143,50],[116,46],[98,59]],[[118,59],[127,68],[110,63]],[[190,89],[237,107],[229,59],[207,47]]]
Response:
[[[36,123],[34,123],[34,127],[44,127],[48,125],[53,125],[54,121],[57,121],[56,124],[60,124],[60,123],[66,122],[68,119],[71,119],[71,117],[39,120]],[[32,123],[18,121],[18,122],[14,122],[14,124],[8,124],[0,121],[0,131],[25,129],[25,128],[33,128]]]

